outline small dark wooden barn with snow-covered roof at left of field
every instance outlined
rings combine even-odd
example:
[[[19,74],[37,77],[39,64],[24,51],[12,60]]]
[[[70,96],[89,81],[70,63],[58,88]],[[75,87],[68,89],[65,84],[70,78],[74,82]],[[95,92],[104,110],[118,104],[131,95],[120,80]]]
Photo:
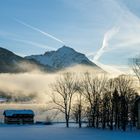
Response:
[[[3,115],[5,124],[34,123],[34,112],[32,110],[5,110]]]

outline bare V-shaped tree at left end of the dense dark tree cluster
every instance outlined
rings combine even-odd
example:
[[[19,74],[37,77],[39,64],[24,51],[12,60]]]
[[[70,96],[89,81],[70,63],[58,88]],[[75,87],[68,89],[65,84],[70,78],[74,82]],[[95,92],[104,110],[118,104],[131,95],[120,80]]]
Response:
[[[106,84],[105,75],[92,75],[85,73],[82,80],[82,92],[89,104],[87,114],[89,126],[99,126],[99,113],[100,113],[100,99]]]

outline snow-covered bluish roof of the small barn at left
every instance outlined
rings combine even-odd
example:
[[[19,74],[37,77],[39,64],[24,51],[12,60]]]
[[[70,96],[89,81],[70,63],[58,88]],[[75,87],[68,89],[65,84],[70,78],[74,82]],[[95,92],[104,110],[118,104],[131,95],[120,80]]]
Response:
[[[34,112],[32,110],[5,110],[3,112],[3,115],[5,116],[13,116],[13,115],[33,115],[34,116]]]

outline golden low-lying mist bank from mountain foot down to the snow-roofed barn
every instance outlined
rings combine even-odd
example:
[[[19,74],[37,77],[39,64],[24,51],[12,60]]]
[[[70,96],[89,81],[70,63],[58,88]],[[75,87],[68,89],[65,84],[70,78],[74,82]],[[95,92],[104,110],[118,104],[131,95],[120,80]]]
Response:
[[[63,69],[56,73],[42,72],[39,69],[26,73],[1,73],[0,74],[0,98],[6,98],[7,102],[1,103],[1,114],[4,109],[33,109],[38,120],[46,117],[46,111],[52,106],[51,85],[57,78],[66,72],[75,73],[78,77],[89,72],[99,74],[97,69],[89,66],[77,65]],[[114,77],[114,75],[109,75]],[[50,114],[50,113],[49,113]]]

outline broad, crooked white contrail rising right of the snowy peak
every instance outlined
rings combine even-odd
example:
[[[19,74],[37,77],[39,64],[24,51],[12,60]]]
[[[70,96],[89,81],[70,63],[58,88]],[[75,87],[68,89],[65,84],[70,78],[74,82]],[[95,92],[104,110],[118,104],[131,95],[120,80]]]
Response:
[[[112,39],[112,37],[119,31],[118,27],[113,27],[112,29],[110,29],[109,31],[107,31],[104,35],[104,39],[103,39],[103,44],[102,47],[97,51],[97,53],[95,54],[93,61],[98,61],[99,58],[103,55],[103,53],[105,52],[105,48],[108,47],[109,41],[110,39]]]

